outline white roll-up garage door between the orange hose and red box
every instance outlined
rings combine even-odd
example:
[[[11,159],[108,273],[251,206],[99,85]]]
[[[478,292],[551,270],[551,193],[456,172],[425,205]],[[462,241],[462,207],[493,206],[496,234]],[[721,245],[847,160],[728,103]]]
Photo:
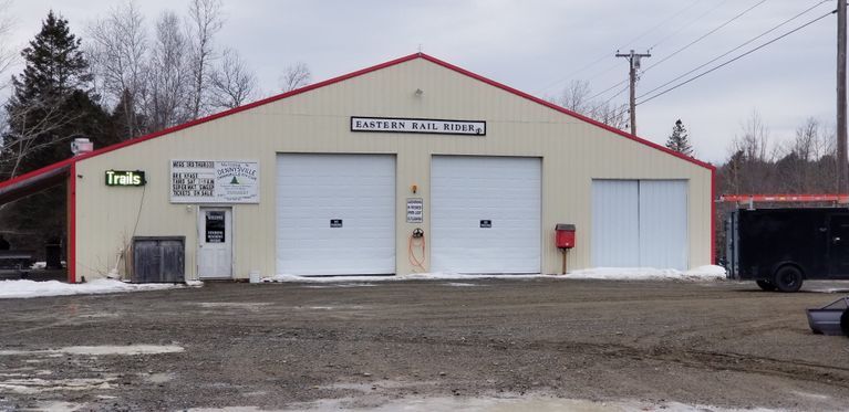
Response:
[[[431,270],[539,273],[538,158],[434,156]]]

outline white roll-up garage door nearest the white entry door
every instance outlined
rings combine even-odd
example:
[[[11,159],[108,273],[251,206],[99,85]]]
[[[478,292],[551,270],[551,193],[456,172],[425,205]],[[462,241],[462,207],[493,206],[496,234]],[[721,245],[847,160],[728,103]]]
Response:
[[[277,273],[395,273],[395,158],[278,155]]]

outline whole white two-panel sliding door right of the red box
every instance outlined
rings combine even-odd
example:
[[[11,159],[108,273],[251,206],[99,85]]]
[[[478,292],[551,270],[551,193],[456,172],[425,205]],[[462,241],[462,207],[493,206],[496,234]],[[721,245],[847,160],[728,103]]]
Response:
[[[686,180],[593,180],[592,265],[687,268]]]

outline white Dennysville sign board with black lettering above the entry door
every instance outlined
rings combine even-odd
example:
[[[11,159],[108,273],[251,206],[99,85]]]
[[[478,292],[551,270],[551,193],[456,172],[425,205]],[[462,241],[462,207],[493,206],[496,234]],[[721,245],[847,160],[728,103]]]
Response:
[[[172,160],[172,203],[259,203],[259,162]]]

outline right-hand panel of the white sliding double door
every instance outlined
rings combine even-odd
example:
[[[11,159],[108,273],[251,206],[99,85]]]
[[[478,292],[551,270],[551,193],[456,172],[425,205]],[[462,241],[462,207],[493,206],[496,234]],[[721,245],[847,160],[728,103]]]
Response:
[[[687,268],[686,180],[640,181],[640,266]]]

